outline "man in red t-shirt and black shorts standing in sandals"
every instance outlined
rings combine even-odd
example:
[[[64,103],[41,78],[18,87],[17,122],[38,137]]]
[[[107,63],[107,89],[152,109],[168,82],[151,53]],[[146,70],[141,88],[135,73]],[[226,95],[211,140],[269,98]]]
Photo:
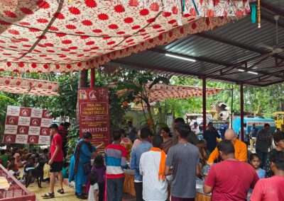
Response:
[[[63,194],[64,190],[62,187],[63,178],[62,178],[62,167],[63,167],[63,151],[62,151],[62,139],[60,134],[58,134],[58,125],[50,125],[50,136],[53,136],[50,145],[51,158],[48,161],[50,165],[50,190],[48,193],[42,197],[53,198],[54,195],[54,185],[55,185],[55,175],[58,176],[59,187],[58,193]]]

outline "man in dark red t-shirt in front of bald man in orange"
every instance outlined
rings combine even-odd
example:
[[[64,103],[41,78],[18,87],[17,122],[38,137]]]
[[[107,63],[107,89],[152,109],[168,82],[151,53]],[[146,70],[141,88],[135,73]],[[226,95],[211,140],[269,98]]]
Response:
[[[222,162],[213,165],[205,180],[204,193],[212,193],[212,201],[246,200],[249,189],[259,180],[249,163],[235,159],[234,145],[222,140],[217,145]]]

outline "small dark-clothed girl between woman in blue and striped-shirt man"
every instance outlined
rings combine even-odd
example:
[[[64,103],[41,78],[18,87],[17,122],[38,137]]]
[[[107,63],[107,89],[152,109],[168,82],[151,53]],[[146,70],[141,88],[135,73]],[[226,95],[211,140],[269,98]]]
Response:
[[[106,173],[106,166],[104,166],[104,158],[102,155],[97,155],[94,159],[92,172],[98,174],[98,185],[99,185],[99,201],[104,200],[104,178]]]

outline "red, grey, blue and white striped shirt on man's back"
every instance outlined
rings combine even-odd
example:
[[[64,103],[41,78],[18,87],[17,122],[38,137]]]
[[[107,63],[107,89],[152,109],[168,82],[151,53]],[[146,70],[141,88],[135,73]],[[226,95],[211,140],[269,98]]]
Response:
[[[124,178],[126,156],[127,150],[120,144],[109,144],[106,147],[107,178]]]

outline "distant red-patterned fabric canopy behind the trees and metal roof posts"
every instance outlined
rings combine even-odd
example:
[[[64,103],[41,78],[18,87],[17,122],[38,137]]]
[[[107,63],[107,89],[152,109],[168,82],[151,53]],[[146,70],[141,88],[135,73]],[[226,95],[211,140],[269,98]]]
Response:
[[[156,101],[165,101],[168,98],[190,98],[202,96],[202,87],[197,86],[181,86],[181,85],[166,85],[166,84],[155,84],[151,89],[148,89],[150,84],[146,85],[148,93],[149,103]],[[123,96],[128,89],[118,91],[117,96]],[[221,88],[206,88],[207,96],[212,96],[215,93],[222,91]],[[138,98],[134,100],[141,101]]]

